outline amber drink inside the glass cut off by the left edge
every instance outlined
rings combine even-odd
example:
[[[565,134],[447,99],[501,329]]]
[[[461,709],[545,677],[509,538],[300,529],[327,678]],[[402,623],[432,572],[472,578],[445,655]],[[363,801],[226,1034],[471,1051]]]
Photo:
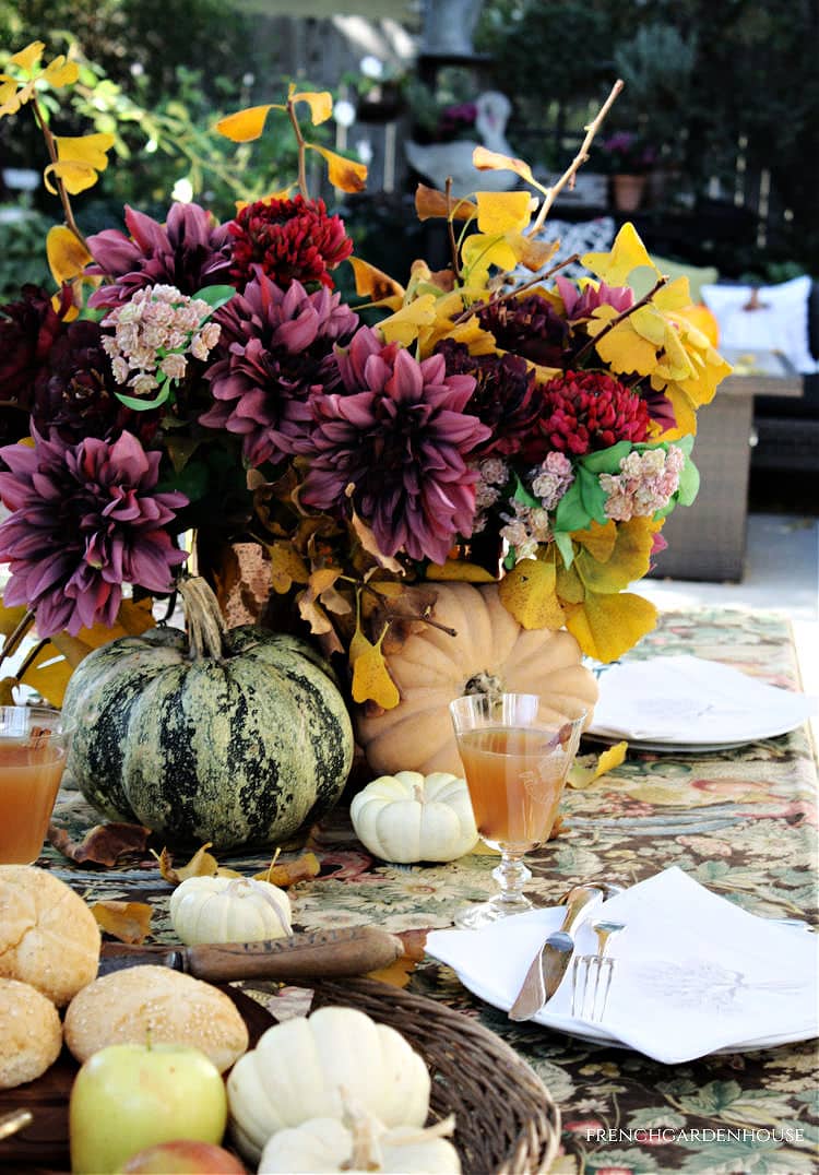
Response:
[[[40,855],[65,764],[58,740],[0,739],[0,864]]]

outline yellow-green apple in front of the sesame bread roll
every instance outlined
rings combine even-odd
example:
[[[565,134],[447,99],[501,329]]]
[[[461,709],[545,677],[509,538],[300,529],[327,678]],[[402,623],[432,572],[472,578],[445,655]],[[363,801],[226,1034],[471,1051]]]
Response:
[[[145,1147],[175,1139],[220,1143],[224,1082],[197,1048],[108,1045],[82,1066],[68,1112],[72,1171],[109,1175]]]

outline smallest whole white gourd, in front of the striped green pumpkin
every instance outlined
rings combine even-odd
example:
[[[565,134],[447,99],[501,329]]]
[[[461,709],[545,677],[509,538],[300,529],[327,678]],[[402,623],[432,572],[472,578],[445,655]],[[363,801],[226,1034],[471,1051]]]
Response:
[[[284,891],[253,878],[186,878],[170,895],[170,921],[187,946],[281,939],[290,918]]]

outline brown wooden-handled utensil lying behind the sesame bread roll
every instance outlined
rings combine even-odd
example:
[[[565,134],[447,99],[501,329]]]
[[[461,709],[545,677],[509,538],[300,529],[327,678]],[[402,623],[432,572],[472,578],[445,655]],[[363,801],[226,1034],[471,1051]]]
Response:
[[[389,967],[404,953],[395,934],[376,926],[302,931],[263,942],[195,947],[103,947],[100,975],[143,964],[173,967],[210,983],[235,979],[341,979]]]

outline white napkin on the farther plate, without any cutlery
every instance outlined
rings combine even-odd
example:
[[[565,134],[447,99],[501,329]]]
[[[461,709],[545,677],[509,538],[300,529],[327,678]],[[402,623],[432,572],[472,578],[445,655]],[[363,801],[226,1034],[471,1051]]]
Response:
[[[696,745],[774,738],[815,713],[817,701],[699,657],[626,660],[600,673],[589,733]]]

